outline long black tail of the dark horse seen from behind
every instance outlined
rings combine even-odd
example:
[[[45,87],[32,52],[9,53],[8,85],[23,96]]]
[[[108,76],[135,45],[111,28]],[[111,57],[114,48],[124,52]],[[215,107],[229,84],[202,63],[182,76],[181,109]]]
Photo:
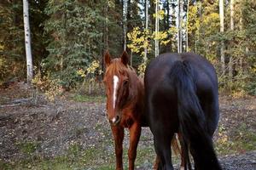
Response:
[[[196,95],[193,68],[188,61],[176,61],[172,66],[171,78],[177,91],[177,116],[179,132],[182,134],[185,169],[191,169],[189,150],[197,169],[221,169]]]

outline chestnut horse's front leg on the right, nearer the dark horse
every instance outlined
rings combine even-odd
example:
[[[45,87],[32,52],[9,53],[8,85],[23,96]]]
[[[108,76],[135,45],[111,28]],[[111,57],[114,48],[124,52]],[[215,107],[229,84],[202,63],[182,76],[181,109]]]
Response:
[[[130,147],[128,151],[129,156],[129,170],[134,169],[134,161],[137,156],[137,144],[139,142],[142,127],[136,122],[129,128],[130,131]]]

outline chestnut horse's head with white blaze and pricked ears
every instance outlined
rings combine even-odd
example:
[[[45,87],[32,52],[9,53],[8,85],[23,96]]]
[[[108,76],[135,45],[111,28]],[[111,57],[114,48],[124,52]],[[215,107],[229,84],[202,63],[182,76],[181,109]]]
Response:
[[[104,60],[106,72],[103,82],[107,94],[108,121],[117,125],[122,118],[122,111],[131,94],[129,55],[124,51],[120,58],[111,59],[107,51]]]

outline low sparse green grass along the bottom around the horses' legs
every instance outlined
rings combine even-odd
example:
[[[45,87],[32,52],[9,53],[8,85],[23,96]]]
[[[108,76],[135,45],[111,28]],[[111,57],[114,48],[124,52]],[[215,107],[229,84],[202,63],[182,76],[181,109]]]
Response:
[[[216,141],[216,150],[218,155],[230,155],[234,153],[255,150],[256,135],[248,131],[246,125],[242,124],[237,127],[234,138],[224,135],[225,129],[219,127],[219,133],[222,137]],[[106,148],[111,143],[102,143],[102,148]],[[114,169],[115,158],[113,152],[101,150],[98,148],[90,148],[82,150],[79,144],[69,146],[67,154],[64,156],[55,156],[52,158],[34,156],[34,152],[38,147],[37,143],[19,144],[20,151],[26,155],[26,158],[19,161],[3,162],[0,161],[1,169],[34,169],[34,170],[66,170],[66,169],[97,169],[110,170]],[[124,166],[128,167],[127,148],[124,150]],[[174,163],[177,164],[179,158],[173,157]],[[154,148],[139,147],[137,150],[137,167],[152,167],[154,161]]]

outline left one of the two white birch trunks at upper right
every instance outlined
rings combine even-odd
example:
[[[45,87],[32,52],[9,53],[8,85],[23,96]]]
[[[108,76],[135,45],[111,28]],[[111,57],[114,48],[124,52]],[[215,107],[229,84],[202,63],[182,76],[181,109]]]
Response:
[[[219,0],[219,20],[220,20],[220,32],[224,32],[224,0]],[[222,73],[225,73],[225,57],[224,57],[224,41],[221,41],[220,47],[220,62]]]

